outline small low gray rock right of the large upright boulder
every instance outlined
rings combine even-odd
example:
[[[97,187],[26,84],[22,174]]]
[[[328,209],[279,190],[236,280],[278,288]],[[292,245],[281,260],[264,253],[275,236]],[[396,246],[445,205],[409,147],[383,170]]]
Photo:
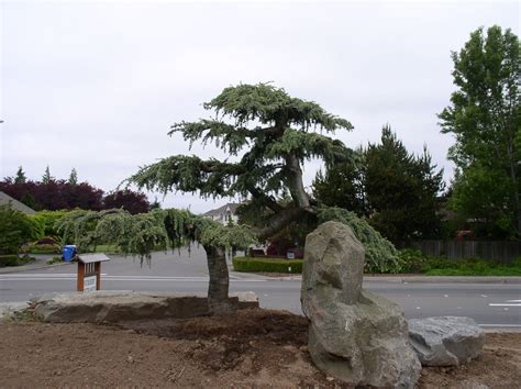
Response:
[[[485,332],[465,316],[411,319],[409,338],[423,366],[458,366],[481,353]]]

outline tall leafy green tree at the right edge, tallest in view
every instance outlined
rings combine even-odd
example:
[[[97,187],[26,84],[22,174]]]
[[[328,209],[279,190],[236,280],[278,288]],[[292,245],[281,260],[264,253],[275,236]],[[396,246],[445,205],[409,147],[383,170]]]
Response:
[[[477,234],[521,237],[521,58],[518,36],[492,26],[478,29],[452,53],[451,105],[440,113],[443,133],[456,143],[451,205]]]

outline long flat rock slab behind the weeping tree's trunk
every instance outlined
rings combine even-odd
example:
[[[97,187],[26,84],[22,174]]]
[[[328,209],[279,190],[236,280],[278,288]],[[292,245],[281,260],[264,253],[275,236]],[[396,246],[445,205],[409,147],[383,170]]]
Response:
[[[239,308],[258,308],[253,292],[231,293]],[[49,293],[31,300],[34,313],[46,322],[118,322],[138,319],[193,318],[209,313],[206,294],[96,291]]]

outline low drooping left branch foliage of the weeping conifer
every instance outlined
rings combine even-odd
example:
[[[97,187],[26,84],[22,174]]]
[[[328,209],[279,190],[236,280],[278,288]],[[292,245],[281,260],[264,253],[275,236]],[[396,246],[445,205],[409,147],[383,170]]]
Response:
[[[187,210],[156,209],[131,214],[124,210],[73,211],[56,225],[66,244],[79,252],[96,251],[97,245],[115,245],[125,255],[149,259],[151,253],[178,248],[191,243],[215,247],[246,247],[256,243],[245,225],[222,225]]]

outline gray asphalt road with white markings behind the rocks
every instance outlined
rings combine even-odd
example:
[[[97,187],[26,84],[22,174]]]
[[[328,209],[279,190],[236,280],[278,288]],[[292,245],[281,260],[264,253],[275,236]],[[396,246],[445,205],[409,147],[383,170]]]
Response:
[[[151,266],[138,259],[112,257],[102,265],[102,289],[201,292],[208,288],[208,270],[201,249],[190,255],[157,253]],[[74,291],[76,265],[0,274],[0,301],[26,301],[53,291]],[[485,327],[521,329],[521,285],[402,284],[365,280],[364,288],[399,303],[408,318],[465,315]],[[231,273],[232,291],[254,291],[264,308],[301,314],[300,280],[279,280]]]

